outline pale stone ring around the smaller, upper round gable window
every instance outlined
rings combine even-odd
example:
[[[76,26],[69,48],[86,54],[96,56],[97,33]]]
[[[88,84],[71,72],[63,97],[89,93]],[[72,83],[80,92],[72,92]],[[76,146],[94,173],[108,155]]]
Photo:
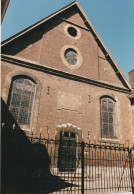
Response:
[[[74,28],[76,31],[77,31],[77,35],[76,36],[72,36],[72,35],[70,35],[69,34],[69,32],[68,32],[68,28]],[[69,37],[69,38],[72,38],[72,39],[79,39],[80,37],[81,37],[81,32],[80,32],[80,30],[79,30],[79,28],[77,28],[76,26],[74,26],[74,25],[71,25],[71,24],[67,24],[65,27],[64,27],[64,31],[65,31],[65,33],[66,33],[66,35]]]

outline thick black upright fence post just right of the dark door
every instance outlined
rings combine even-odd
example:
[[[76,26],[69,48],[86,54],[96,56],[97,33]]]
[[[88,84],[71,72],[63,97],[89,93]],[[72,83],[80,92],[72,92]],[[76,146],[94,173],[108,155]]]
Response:
[[[81,194],[84,194],[84,142],[81,143]]]

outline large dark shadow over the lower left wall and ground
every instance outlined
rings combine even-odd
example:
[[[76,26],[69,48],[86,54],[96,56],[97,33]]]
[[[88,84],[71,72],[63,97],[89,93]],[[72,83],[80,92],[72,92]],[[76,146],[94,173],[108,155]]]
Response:
[[[1,193],[51,193],[72,186],[50,173],[51,161],[45,145],[28,140],[3,100],[1,110]]]

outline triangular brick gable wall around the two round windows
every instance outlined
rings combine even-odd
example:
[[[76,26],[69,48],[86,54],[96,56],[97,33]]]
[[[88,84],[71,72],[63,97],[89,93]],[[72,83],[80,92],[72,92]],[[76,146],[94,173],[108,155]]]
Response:
[[[79,13],[74,13],[67,20],[87,28]],[[44,24],[38,30],[32,31],[25,35],[24,38],[18,39],[13,45],[9,45],[7,48],[10,50],[8,54],[72,74],[122,86],[121,81],[98,47],[91,32],[79,28],[81,37],[73,39],[65,33],[64,27],[66,25],[68,23],[61,22],[60,19],[52,20],[47,26]],[[48,31],[47,28],[49,29]],[[63,63],[61,49],[66,45],[75,46],[81,53],[82,65],[78,69],[70,69]],[[15,52],[15,49],[18,50]]]

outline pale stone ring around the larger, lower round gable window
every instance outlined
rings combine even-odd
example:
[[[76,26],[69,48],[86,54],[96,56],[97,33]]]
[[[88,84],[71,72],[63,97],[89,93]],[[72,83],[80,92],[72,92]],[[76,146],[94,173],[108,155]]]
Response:
[[[67,49],[73,49],[73,50],[76,51],[76,53],[77,53],[77,62],[76,62],[75,65],[71,65],[66,61],[65,52],[66,52]],[[64,65],[69,67],[70,69],[77,69],[82,64],[82,56],[81,56],[80,51],[78,50],[77,47],[72,46],[72,45],[65,45],[64,47],[62,47],[62,49],[61,49],[61,59],[62,59],[62,62],[64,63]]]

